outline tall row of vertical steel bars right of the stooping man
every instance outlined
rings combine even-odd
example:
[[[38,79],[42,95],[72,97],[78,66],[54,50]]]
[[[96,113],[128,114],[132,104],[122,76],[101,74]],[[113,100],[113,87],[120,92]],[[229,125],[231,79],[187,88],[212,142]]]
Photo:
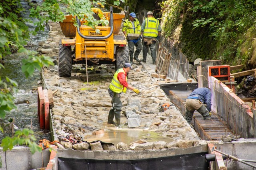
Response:
[[[224,83],[208,77],[208,71],[198,66],[198,88],[212,90],[212,111],[234,133],[242,138],[256,137],[256,114]]]

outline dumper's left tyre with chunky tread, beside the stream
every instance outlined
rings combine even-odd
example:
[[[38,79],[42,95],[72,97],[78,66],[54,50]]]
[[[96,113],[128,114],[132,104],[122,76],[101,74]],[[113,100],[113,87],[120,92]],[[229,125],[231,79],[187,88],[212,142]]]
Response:
[[[59,43],[59,76],[70,77],[72,72],[71,46],[63,46]]]

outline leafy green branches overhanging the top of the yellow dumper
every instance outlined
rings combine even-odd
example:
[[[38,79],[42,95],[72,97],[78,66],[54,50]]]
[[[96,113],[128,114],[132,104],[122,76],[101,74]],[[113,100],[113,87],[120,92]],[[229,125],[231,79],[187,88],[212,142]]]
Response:
[[[114,1],[114,5],[120,5],[120,1]],[[38,18],[39,21],[34,23],[37,27],[35,31],[44,30],[44,23],[50,21],[62,22],[65,18],[65,14],[71,14],[72,16],[78,16],[80,20],[85,20],[85,24],[94,28],[98,24],[108,25],[108,20],[104,18],[102,20],[96,20],[92,15],[91,8],[95,6],[100,6],[104,8],[106,4],[105,0],[45,0],[41,5],[36,5],[36,7],[30,9],[30,16]],[[65,13],[60,8],[61,6],[65,7]],[[44,13],[44,15],[41,15]],[[85,17],[86,16],[86,17]],[[76,26],[78,26],[76,24]]]

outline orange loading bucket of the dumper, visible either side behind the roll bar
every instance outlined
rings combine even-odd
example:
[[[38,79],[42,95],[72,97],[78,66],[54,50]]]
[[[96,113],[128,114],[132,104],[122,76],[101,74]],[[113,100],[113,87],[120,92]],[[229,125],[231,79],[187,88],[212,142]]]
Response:
[[[104,12],[104,16],[109,21],[110,20],[110,12]],[[117,35],[119,33],[122,19],[124,18],[125,14],[116,14],[113,13],[113,20],[114,20],[114,35]],[[60,22],[60,27],[62,30],[62,33],[65,35],[65,37],[75,37],[76,36],[76,27],[74,26],[74,19],[75,17],[72,15],[65,16],[65,20],[63,22]],[[74,18],[74,19],[73,19]]]

